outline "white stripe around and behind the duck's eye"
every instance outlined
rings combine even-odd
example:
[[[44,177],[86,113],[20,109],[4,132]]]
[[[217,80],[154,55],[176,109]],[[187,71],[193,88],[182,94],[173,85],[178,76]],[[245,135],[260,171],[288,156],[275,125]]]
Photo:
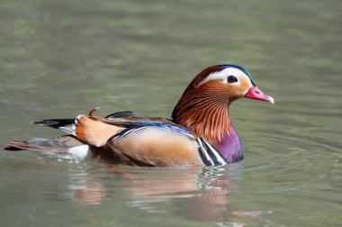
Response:
[[[229,76],[234,76],[234,77],[238,78],[238,82],[230,83],[230,84],[234,84],[234,85],[238,85],[242,78],[247,77],[247,75],[244,72],[242,72],[241,70],[239,70],[238,68],[225,68],[221,71],[213,72],[213,73],[209,74],[208,77],[206,77],[205,79],[202,80],[200,86],[203,83],[209,82],[211,80],[221,80],[224,83],[227,83],[227,78]]]

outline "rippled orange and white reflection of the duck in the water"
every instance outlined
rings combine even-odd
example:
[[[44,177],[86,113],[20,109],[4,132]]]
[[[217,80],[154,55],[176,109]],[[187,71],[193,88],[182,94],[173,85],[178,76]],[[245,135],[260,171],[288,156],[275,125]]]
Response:
[[[114,187],[108,185],[112,179],[88,178],[82,188],[74,187],[74,198],[82,204],[101,204],[103,198],[111,198],[150,213],[165,212],[163,202],[171,202],[172,212],[189,220],[243,226],[245,223],[229,219],[261,219],[260,214],[269,212],[229,211],[229,192],[238,187],[240,165],[138,169],[114,166],[109,168],[115,177]]]

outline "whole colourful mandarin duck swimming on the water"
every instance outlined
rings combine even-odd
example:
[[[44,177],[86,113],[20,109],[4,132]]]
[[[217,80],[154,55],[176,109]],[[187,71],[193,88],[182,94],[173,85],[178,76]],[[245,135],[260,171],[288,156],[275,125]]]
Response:
[[[274,103],[246,69],[234,65],[205,68],[175,105],[172,119],[134,112],[106,117],[37,122],[68,135],[56,139],[11,141],[5,150],[36,150],[93,156],[133,166],[218,166],[243,159],[238,133],[229,121],[229,104],[241,97]]]

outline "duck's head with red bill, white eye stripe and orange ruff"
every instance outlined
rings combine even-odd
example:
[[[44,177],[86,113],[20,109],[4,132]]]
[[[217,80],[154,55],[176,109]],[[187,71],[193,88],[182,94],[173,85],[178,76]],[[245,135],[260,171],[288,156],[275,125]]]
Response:
[[[274,104],[254,83],[248,71],[234,65],[205,68],[187,86],[172,117],[208,140],[229,132],[228,106],[241,97]]]

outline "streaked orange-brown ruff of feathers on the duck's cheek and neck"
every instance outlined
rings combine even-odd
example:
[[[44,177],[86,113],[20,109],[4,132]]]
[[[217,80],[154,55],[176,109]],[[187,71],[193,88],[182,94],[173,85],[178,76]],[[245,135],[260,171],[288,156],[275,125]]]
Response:
[[[187,91],[175,107],[176,123],[209,141],[221,141],[230,131],[228,86],[210,81]]]

